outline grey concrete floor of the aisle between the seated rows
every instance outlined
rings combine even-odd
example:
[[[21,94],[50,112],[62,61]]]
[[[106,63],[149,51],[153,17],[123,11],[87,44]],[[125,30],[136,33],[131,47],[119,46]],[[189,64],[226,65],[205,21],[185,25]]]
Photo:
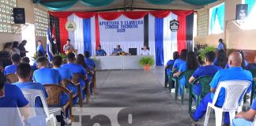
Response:
[[[184,105],[164,88],[164,68],[144,70],[109,70],[96,73],[96,95],[85,108],[125,107],[136,126],[187,126],[195,123],[188,117],[188,100]],[[215,125],[214,115],[209,125]],[[116,117],[117,118],[117,117]],[[211,119],[212,118],[212,119]],[[121,125],[127,117],[120,117]],[[119,124],[120,124],[119,121]],[[197,124],[202,125],[204,118]],[[111,125],[119,125],[111,124]],[[83,125],[87,125],[84,122]],[[104,124],[103,124],[104,125]],[[107,124],[105,124],[107,125]]]

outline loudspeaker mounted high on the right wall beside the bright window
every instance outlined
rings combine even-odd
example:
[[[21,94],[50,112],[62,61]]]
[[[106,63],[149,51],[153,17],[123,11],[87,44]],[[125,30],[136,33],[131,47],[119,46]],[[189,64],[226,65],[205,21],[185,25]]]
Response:
[[[236,5],[235,20],[244,20],[247,18],[248,14],[248,4]]]

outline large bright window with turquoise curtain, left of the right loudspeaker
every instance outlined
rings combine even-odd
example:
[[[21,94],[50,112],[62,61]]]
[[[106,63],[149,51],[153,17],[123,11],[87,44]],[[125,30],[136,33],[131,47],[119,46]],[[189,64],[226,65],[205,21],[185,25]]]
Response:
[[[224,3],[209,9],[209,34],[219,34],[224,31],[224,13]]]

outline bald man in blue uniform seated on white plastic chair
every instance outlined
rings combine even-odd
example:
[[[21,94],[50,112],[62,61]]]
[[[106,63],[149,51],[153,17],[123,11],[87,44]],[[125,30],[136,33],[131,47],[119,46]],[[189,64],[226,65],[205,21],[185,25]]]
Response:
[[[239,52],[233,52],[228,57],[228,65],[230,66],[229,69],[220,69],[218,72],[216,72],[215,76],[213,76],[213,80],[209,84],[211,89],[210,93],[208,95],[205,95],[205,97],[201,100],[198,108],[195,110],[194,113],[190,113],[190,118],[194,121],[198,121],[201,119],[201,117],[204,116],[206,113],[206,109],[209,102],[213,102],[214,93],[216,91],[216,87],[221,81],[225,80],[249,80],[252,82],[253,78],[249,71],[243,70],[241,67],[242,64],[242,55]],[[247,90],[247,93],[249,93],[251,90],[251,84],[250,87]],[[220,95],[218,96],[216,100],[216,106],[222,107],[225,100],[225,91],[224,89],[220,90]],[[224,113],[224,125],[229,124],[229,114]]]

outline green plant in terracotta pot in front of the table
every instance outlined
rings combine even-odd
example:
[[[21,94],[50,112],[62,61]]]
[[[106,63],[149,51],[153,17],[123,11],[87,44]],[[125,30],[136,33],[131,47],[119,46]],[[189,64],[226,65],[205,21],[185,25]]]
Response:
[[[143,68],[146,72],[148,72],[150,67],[155,65],[155,60],[154,60],[153,57],[141,57],[141,60],[139,61],[139,64],[141,66],[143,66]]]

